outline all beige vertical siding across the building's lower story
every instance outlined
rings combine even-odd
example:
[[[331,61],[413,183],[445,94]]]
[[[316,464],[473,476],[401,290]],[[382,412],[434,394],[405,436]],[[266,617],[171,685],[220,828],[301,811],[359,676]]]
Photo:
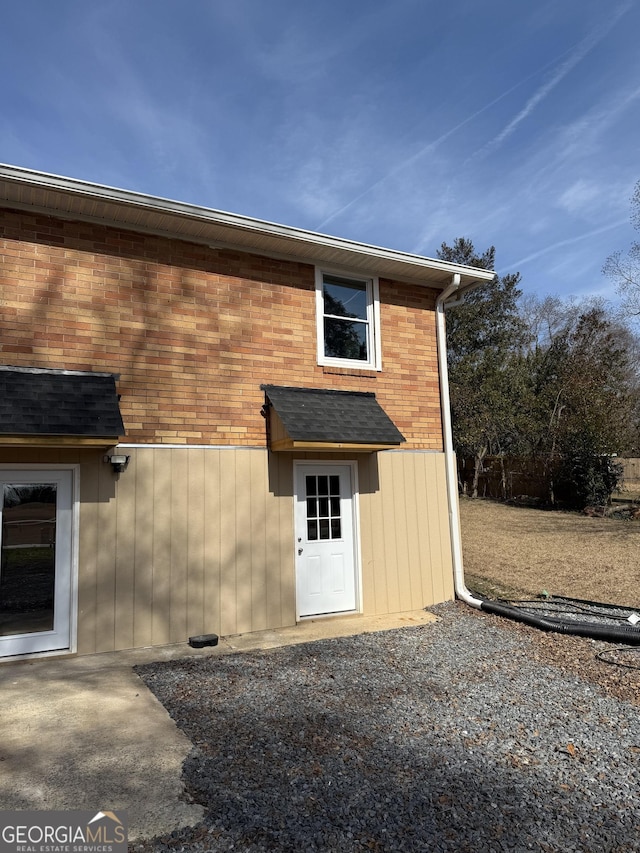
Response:
[[[78,651],[293,625],[293,460],[247,448],[138,447],[115,476],[103,451],[2,450],[0,462],[80,464]],[[323,454],[322,459],[344,459]],[[444,457],[359,454],[366,614],[453,597]]]

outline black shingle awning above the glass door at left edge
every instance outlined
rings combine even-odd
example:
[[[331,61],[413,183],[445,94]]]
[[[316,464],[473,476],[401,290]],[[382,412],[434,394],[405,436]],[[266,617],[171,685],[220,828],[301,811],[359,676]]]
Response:
[[[106,447],[122,435],[113,374],[0,366],[0,445]]]

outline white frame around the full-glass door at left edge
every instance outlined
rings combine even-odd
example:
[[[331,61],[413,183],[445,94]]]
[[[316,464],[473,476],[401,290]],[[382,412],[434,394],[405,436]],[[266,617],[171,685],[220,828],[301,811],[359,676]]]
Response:
[[[35,637],[36,634],[26,634],[25,635],[25,651],[23,652],[15,652],[9,653],[7,655],[2,655],[0,653],[0,660],[2,661],[10,661],[10,660],[25,660],[31,657],[47,657],[51,655],[61,655],[61,654],[69,654],[75,653],[77,651],[77,638],[78,638],[78,553],[79,553],[79,518],[80,518],[80,465],[75,463],[9,463],[3,462],[0,463],[0,478],[5,478],[7,474],[10,472],[15,472],[17,478],[21,474],[25,475],[37,475],[42,473],[42,479],[46,482],[46,477],[48,474],[53,474],[56,471],[58,472],[70,472],[71,473],[71,532],[70,532],[70,542],[69,542],[69,577],[68,577],[68,588],[65,589],[64,601],[61,602],[62,606],[67,609],[68,619],[69,619],[69,635],[68,635],[68,643],[64,646],[64,648],[54,648],[54,649],[35,649],[30,650],[28,648],[29,643],[26,638]],[[54,612],[55,618],[55,612]],[[43,635],[47,632],[43,632]],[[20,637],[20,635],[13,635],[15,637]],[[2,638],[0,638],[1,640]],[[65,632],[66,639],[66,632]],[[16,641],[16,645],[19,645],[19,641]],[[57,643],[53,643],[53,645],[57,645]]]

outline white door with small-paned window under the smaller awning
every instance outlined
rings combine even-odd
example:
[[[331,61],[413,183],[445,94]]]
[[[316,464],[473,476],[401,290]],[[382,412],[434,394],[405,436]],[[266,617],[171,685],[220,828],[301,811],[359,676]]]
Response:
[[[356,610],[353,478],[351,465],[296,465],[299,616]]]

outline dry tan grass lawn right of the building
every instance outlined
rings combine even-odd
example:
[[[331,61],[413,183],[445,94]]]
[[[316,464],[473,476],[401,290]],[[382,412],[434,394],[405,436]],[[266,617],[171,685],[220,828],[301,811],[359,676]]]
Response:
[[[460,499],[467,586],[492,598],[545,590],[640,608],[640,520]]]

